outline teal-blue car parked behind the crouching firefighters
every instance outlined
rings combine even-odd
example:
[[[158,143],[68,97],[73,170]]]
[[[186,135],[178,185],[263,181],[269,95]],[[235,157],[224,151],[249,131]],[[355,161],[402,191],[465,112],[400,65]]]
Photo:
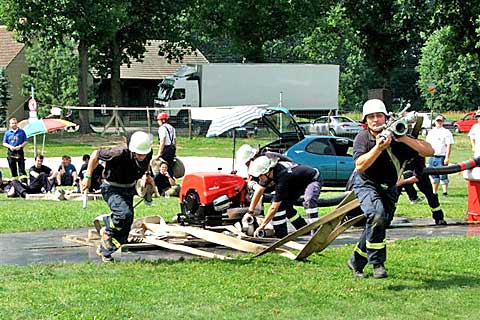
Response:
[[[355,167],[348,153],[353,140],[333,136],[306,136],[291,146],[285,155],[293,161],[317,168],[324,186],[344,187]]]

